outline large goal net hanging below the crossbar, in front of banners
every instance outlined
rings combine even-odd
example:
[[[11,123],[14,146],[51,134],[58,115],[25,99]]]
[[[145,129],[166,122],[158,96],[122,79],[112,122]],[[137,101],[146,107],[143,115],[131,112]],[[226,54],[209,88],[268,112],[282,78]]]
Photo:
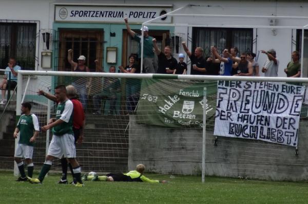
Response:
[[[84,97],[85,136],[76,144],[83,172],[126,172],[143,163],[146,171],[158,174],[203,171],[281,179],[287,178],[286,171],[277,176],[267,171],[281,165],[300,169],[295,165],[297,148],[304,145],[299,127],[307,117],[301,84],[218,76],[21,73],[32,76],[29,83],[18,81],[18,87],[23,87],[24,101],[33,104],[40,126],[47,124],[48,112],[54,116],[56,104],[38,96],[38,89],[52,94],[56,85],[74,84],[79,98]],[[40,133],[36,166],[44,162],[51,136]],[[59,160],[52,170],[61,172]]]

